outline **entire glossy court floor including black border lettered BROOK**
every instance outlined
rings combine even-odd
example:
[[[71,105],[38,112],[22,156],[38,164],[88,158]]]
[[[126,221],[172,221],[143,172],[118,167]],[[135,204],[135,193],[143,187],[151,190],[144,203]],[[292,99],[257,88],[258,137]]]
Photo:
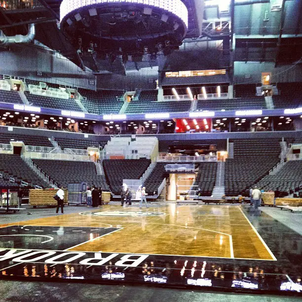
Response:
[[[2,226],[0,248],[3,277],[302,291],[302,236],[241,206],[83,210]]]

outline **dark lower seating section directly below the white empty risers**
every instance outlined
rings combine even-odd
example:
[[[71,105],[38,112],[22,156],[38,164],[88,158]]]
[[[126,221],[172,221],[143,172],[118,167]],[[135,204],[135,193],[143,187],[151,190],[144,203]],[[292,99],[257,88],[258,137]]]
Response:
[[[113,194],[119,195],[123,179],[140,179],[151,164],[150,159],[104,159],[106,179]]]

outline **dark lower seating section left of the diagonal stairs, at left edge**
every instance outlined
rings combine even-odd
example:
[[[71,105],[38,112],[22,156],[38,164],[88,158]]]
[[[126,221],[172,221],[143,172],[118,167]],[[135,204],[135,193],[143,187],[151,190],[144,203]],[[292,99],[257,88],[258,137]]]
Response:
[[[6,179],[12,177],[18,184],[20,184],[21,181],[24,181],[32,188],[34,188],[35,185],[42,188],[48,188],[47,183],[38,177],[38,175],[23,161],[20,155],[0,153],[0,173],[2,172],[4,172]]]

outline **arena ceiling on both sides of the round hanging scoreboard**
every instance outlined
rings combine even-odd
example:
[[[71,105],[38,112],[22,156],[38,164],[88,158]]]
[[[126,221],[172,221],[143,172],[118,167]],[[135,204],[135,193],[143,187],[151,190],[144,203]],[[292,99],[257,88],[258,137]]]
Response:
[[[226,48],[229,43],[234,46],[235,61],[289,64],[302,55],[301,0],[183,2],[189,12],[186,41],[223,39]],[[76,49],[59,29],[61,0],[34,0],[32,3],[33,8],[0,7],[0,30],[6,35],[26,34],[27,24],[36,23],[36,38],[41,43],[82,66]],[[285,59],[286,56],[289,58]]]

